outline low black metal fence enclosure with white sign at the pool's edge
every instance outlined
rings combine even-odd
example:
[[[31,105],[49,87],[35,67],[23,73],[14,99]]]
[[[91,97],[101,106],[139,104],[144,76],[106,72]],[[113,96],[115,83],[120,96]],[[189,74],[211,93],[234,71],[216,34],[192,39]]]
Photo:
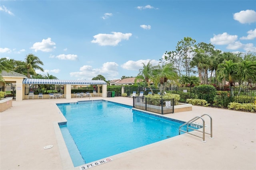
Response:
[[[160,114],[174,113],[174,99],[133,97],[133,107]]]

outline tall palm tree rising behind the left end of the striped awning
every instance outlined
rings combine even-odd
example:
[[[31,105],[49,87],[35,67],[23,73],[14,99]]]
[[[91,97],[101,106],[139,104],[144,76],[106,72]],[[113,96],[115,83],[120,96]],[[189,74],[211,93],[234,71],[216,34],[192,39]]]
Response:
[[[30,78],[30,75],[36,75],[35,69],[40,71],[44,71],[40,65],[44,65],[44,63],[36,57],[34,54],[28,54],[25,58],[25,62],[20,63],[21,65],[16,66],[15,69],[26,69],[26,76]]]

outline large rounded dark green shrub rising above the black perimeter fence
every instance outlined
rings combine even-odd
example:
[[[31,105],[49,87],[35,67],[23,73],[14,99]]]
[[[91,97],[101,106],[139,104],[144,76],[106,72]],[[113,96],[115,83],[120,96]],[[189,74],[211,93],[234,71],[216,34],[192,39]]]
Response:
[[[216,89],[213,85],[199,85],[194,87],[194,93],[198,96],[198,99],[204,99],[208,103],[214,103],[216,95]]]

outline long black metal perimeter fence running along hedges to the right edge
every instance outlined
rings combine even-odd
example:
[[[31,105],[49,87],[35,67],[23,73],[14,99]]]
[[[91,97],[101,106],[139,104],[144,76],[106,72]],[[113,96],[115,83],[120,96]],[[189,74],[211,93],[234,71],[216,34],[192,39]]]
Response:
[[[169,93],[180,95],[180,103],[187,103],[187,99],[205,99],[211,107],[228,108],[230,102],[256,104],[255,88],[204,89],[193,87],[173,87]]]

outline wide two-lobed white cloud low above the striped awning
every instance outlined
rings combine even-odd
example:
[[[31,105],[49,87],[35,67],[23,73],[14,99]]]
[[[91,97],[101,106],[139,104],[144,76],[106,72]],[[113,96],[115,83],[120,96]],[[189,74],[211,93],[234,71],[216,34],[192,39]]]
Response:
[[[115,62],[106,62],[103,63],[100,68],[92,68],[91,65],[83,65],[80,67],[78,72],[70,73],[71,77],[78,77],[79,79],[87,79],[91,80],[93,77],[97,75],[103,75],[106,80],[112,79],[118,75],[118,64]]]

